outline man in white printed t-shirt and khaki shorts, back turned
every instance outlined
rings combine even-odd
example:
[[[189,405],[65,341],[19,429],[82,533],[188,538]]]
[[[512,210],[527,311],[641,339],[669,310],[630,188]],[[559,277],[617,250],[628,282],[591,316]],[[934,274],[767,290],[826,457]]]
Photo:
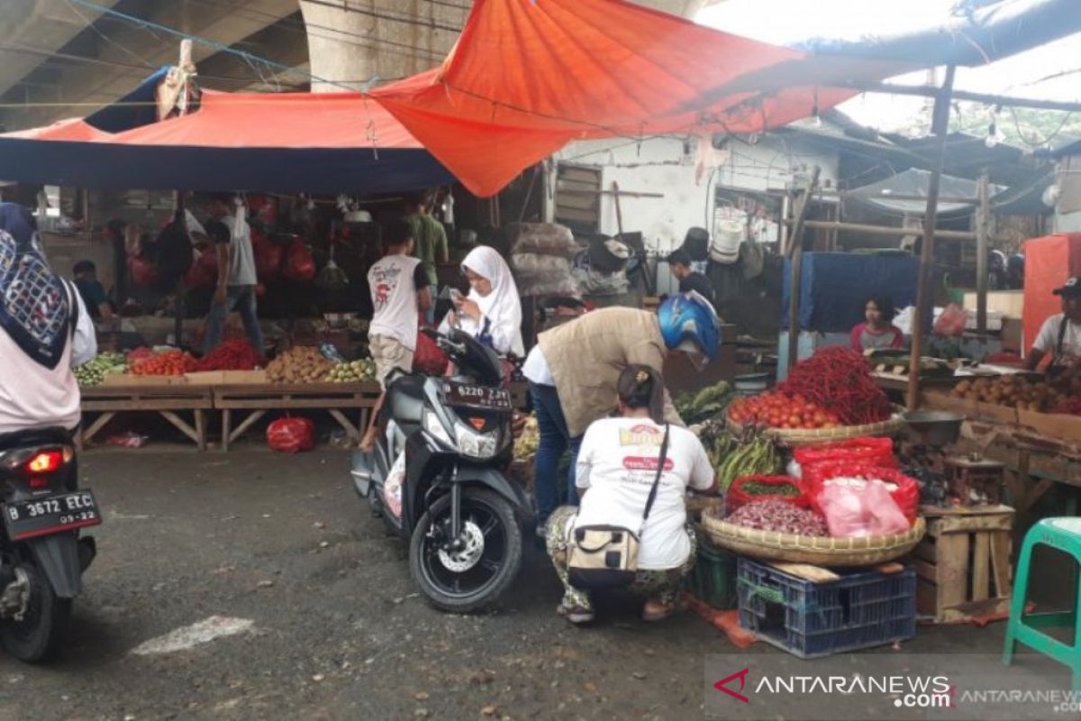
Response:
[[[372,422],[360,442],[361,450],[368,452],[375,445],[378,415],[390,376],[396,371],[413,371],[419,315],[432,303],[428,275],[421,261],[410,256],[413,252],[410,225],[404,221],[387,225],[383,229],[383,243],[385,255],[368,271],[375,310],[368,329],[368,346],[375,361],[375,378],[383,388],[372,411]]]

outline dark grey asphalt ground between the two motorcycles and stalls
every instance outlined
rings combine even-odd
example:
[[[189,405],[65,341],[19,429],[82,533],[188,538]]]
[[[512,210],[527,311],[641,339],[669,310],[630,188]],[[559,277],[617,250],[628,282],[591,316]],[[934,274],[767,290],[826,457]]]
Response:
[[[498,611],[436,612],[347,466],[335,451],[88,453],[98,558],[58,663],[0,652],[0,721],[702,718],[705,657],[736,651],[702,618],[645,625],[610,602],[570,627],[532,550]],[[192,645],[212,617],[237,632]],[[993,653],[1001,638],[921,628],[905,650]]]

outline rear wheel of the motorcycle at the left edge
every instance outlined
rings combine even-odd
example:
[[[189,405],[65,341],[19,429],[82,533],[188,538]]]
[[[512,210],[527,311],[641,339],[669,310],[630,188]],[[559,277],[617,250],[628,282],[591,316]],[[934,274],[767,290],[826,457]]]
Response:
[[[36,565],[19,566],[30,586],[30,601],[22,620],[0,620],[0,645],[28,664],[52,660],[61,651],[71,620],[71,599],[57,598],[52,584]]]

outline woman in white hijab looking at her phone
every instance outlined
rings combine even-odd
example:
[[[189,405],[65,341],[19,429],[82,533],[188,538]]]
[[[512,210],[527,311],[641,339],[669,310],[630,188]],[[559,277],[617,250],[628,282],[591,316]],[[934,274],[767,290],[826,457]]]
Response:
[[[455,311],[448,321],[499,355],[525,356],[522,344],[522,304],[507,262],[488,245],[475,248],[462,262],[469,279],[469,295],[454,298]]]

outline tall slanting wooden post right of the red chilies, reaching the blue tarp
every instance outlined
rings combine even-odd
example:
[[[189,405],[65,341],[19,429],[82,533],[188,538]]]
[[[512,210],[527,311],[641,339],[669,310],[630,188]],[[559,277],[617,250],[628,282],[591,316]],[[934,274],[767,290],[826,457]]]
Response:
[[[946,134],[949,131],[950,97],[957,67],[946,67],[946,80],[935,98],[931,130],[935,134],[935,161],[927,184],[927,209],[923,214],[923,246],[920,249],[920,277],[917,285],[916,317],[912,319],[912,352],[908,373],[907,405],[915,410],[920,402],[920,358],[923,356],[923,319],[934,301],[933,275],[935,267],[935,223],[938,216],[938,188],[942,186],[943,157],[946,155]]]

